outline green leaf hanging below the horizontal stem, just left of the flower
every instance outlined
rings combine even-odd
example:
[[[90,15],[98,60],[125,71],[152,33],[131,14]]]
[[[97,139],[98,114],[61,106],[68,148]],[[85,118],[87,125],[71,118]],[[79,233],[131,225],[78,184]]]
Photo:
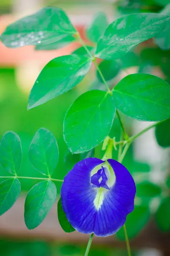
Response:
[[[51,180],[37,183],[28,192],[24,218],[28,229],[39,226],[48,215],[57,196],[57,189]]]

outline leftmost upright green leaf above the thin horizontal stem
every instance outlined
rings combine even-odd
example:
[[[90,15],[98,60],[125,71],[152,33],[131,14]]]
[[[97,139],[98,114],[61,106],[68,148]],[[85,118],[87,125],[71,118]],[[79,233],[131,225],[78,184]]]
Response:
[[[13,131],[3,135],[0,143],[0,164],[7,172],[17,173],[22,160],[20,137]]]

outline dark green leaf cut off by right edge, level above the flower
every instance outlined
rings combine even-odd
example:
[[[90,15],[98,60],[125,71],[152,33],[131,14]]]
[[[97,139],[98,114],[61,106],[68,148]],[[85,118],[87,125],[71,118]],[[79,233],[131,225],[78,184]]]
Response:
[[[170,147],[170,118],[156,125],[155,136],[161,147]]]

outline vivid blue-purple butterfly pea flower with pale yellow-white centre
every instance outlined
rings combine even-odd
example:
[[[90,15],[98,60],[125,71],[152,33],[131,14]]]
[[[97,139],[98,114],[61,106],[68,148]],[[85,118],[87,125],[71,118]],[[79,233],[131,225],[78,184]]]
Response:
[[[125,166],[113,159],[87,158],[64,178],[62,207],[80,233],[110,236],[134,209],[136,186]]]

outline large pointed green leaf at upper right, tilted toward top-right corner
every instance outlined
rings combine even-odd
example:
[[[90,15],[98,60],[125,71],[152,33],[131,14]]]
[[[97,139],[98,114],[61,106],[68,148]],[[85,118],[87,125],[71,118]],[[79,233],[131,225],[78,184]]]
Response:
[[[168,20],[167,15],[156,13],[130,14],[114,20],[99,40],[95,56],[121,58],[136,44],[162,31]]]

